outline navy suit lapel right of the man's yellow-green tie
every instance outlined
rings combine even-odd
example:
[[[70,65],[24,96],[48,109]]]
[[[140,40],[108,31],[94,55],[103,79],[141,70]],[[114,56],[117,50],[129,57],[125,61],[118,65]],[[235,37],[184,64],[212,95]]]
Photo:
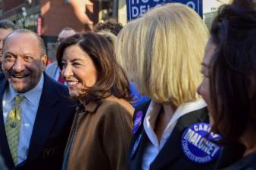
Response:
[[[58,93],[52,87],[52,80],[44,74],[44,85],[42,95],[39,101],[39,108],[36,113],[36,120],[33,127],[32,136],[30,139],[30,148],[27,155],[27,161],[36,159],[39,153],[42,152],[48,134],[55,123],[58,116]]]

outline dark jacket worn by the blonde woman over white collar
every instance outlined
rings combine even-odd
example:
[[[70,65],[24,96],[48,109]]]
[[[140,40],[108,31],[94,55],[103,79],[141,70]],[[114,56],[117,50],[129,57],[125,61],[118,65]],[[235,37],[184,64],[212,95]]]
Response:
[[[150,101],[149,101],[150,102]],[[142,111],[143,116],[148,109],[148,103],[142,104],[142,106],[136,108],[135,115],[138,111]],[[134,117],[135,117],[134,115]],[[143,117],[144,119],[144,117]],[[196,164],[190,161],[186,156],[184,156],[182,147],[181,147],[181,138],[183,131],[187,127],[197,122],[209,122],[208,111],[206,108],[201,110],[195,110],[191,113],[180,117],[178,120],[173,132],[170,134],[170,137],[167,139],[166,144],[161,149],[158,156],[150,165],[150,170],[206,170],[214,169],[216,160],[207,164]],[[139,147],[134,151],[133,147],[136,144],[137,139],[141,135],[141,141],[139,142]],[[143,123],[140,125],[138,131],[133,134],[133,140],[130,146],[130,160],[128,161],[128,167],[130,170],[140,170],[142,169],[142,156],[148,142],[147,134],[143,128]],[[138,144],[138,142],[137,142]]]

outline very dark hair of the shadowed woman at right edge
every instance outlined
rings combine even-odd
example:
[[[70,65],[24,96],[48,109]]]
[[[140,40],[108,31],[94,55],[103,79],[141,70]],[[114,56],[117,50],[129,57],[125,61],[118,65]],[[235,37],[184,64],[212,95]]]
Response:
[[[219,9],[211,27],[216,45],[211,60],[212,131],[223,141],[238,141],[247,128],[256,131],[256,11],[252,1]]]

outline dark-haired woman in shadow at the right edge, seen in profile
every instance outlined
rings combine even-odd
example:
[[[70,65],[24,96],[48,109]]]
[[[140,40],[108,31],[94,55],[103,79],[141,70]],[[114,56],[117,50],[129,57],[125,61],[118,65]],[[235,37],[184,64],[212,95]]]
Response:
[[[222,134],[222,143],[241,144],[245,150],[220,158],[220,169],[256,169],[256,11],[253,1],[225,5],[211,27],[198,87],[208,104],[211,130]],[[233,152],[238,153],[238,147]]]

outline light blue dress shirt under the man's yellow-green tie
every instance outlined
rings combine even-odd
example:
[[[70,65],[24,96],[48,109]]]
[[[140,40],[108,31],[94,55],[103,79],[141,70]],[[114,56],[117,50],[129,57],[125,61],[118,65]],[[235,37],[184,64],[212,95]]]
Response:
[[[17,160],[18,163],[23,162],[27,159],[27,153],[30,147],[30,138],[33,131],[34,122],[36,119],[36,113],[39,107],[39,100],[42,94],[44,78],[41,76],[38,85],[35,88],[22,93],[25,98],[20,103],[21,109],[21,123],[20,123],[20,139],[17,150]],[[11,84],[5,89],[3,96],[3,115],[4,122],[8,117],[8,113],[14,107],[14,97],[19,94],[14,88],[11,87]]]

